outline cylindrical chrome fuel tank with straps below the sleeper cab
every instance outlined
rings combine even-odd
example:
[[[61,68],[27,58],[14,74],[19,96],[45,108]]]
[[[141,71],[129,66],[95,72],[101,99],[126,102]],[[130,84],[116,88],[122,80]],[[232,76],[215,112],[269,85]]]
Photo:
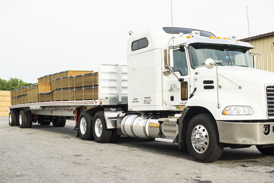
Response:
[[[154,139],[160,132],[159,118],[156,115],[130,114],[123,118],[121,130],[129,137]]]

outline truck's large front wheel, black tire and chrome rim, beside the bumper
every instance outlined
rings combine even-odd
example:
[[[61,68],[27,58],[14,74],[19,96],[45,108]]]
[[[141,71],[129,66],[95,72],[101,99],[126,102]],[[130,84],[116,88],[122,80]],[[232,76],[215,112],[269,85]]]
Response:
[[[191,157],[202,163],[220,158],[224,144],[219,142],[216,121],[209,114],[194,116],[186,130],[186,145]]]

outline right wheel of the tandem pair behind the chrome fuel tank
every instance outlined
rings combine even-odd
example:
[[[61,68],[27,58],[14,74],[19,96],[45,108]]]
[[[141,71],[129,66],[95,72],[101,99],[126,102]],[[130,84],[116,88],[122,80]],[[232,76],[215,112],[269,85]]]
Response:
[[[106,128],[106,120],[103,112],[97,112],[93,119],[93,137],[98,143],[108,143],[112,135],[112,129]]]

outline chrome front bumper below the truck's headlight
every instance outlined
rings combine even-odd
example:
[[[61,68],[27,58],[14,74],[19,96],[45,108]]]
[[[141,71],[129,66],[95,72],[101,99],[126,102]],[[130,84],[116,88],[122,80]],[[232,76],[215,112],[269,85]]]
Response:
[[[265,145],[274,144],[274,123],[233,123],[216,121],[222,143]],[[264,134],[264,125],[270,125],[269,135]]]

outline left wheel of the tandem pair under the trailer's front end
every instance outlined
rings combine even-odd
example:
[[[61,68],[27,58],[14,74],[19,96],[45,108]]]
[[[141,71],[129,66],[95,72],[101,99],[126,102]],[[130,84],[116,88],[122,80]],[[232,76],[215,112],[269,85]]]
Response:
[[[77,124],[78,133],[82,140],[92,140],[92,121],[93,116],[88,112],[82,112],[79,116],[79,121]]]

